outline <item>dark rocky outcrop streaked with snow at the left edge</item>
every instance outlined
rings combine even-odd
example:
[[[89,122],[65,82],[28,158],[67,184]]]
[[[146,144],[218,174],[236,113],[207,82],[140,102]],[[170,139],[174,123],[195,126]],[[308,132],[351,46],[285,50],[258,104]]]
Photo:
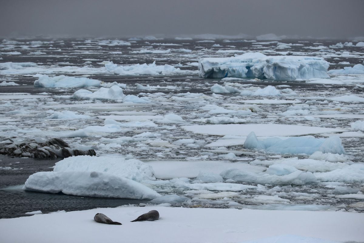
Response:
[[[60,138],[51,138],[47,141],[32,140],[27,142],[17,142],[9,138],[0,143],[0,154],[32,158],[67,158],[78,155],[96,156],[95,150],[72,149]]]

